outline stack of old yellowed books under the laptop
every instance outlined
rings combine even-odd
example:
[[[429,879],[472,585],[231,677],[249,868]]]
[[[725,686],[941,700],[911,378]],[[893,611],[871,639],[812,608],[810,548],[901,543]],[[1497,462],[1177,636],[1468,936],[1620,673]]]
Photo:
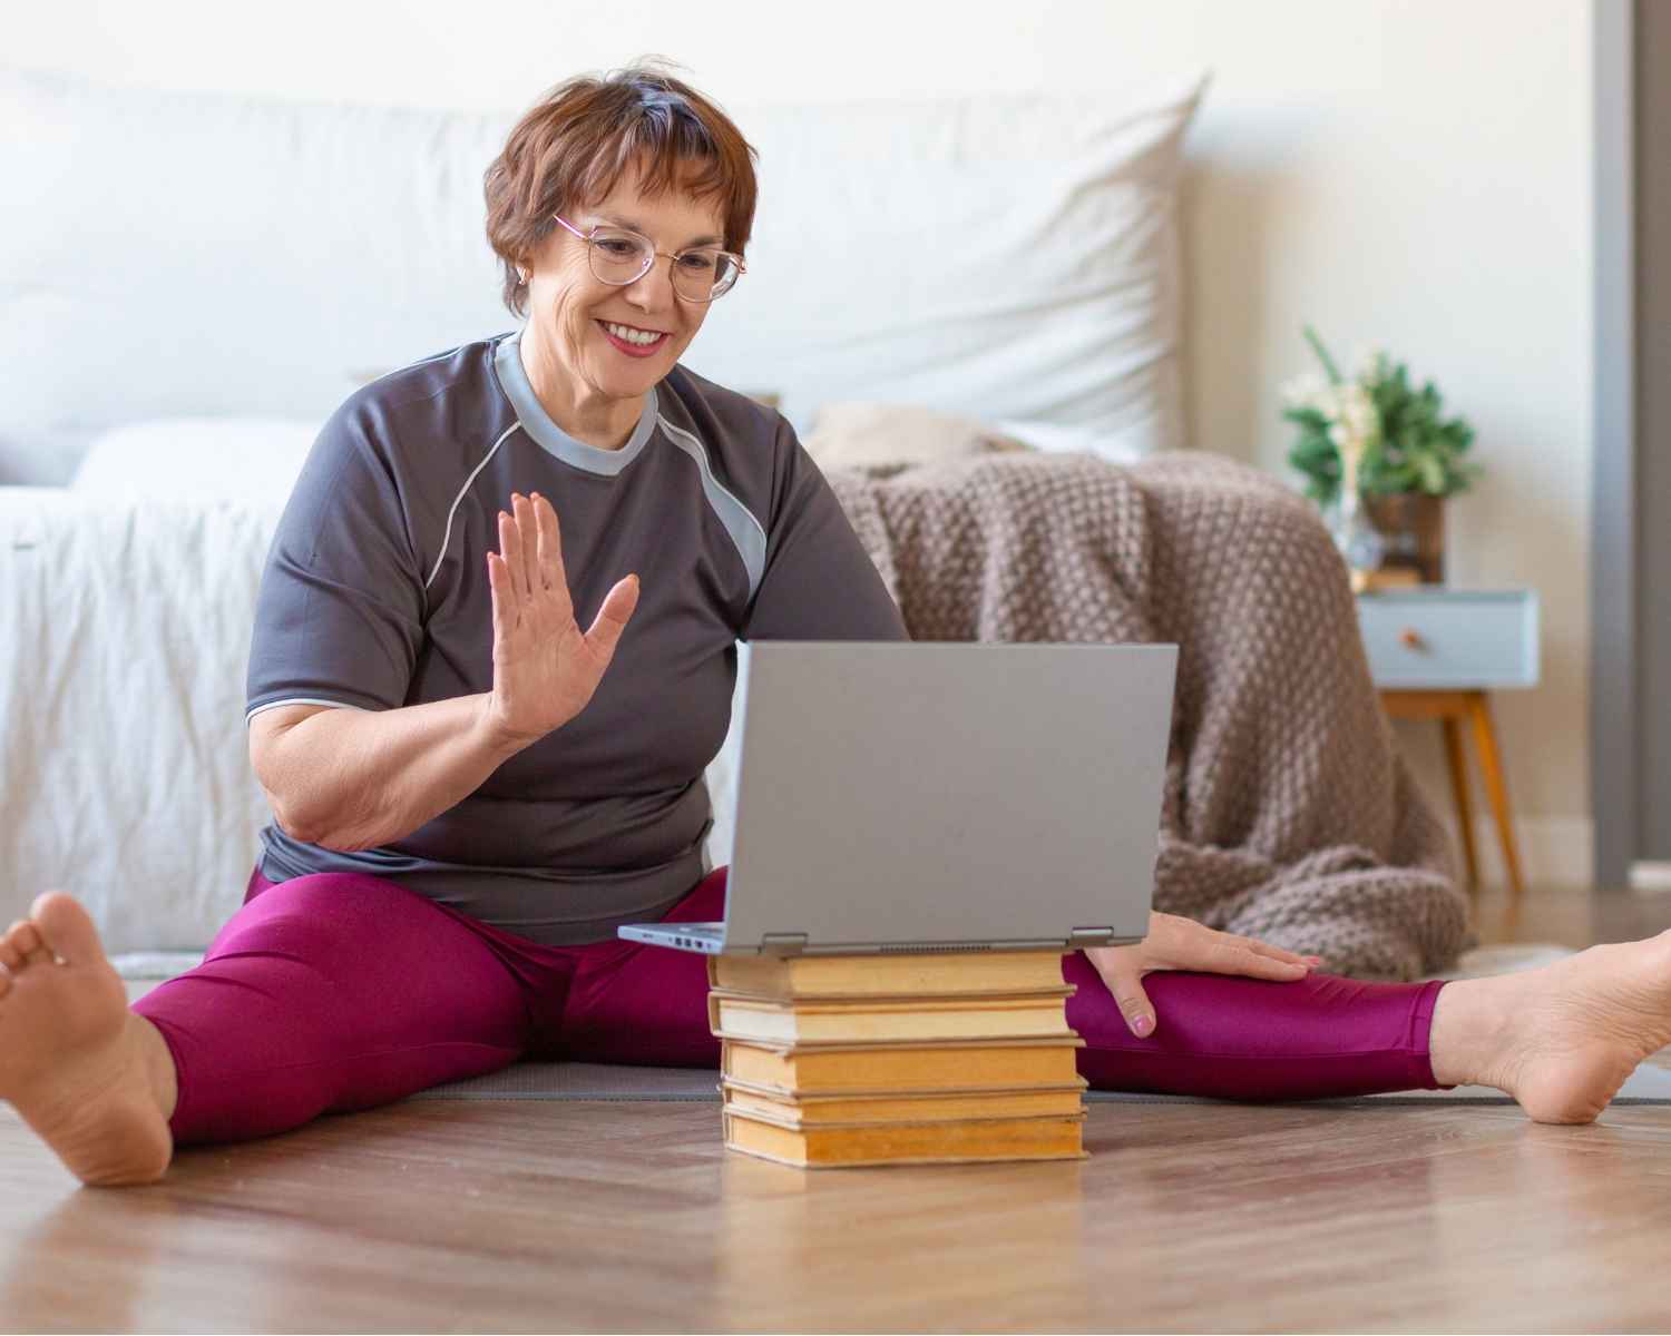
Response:
[[[725,1144],[804,1167],[1083,1159],[1059,952],[715,955]]]

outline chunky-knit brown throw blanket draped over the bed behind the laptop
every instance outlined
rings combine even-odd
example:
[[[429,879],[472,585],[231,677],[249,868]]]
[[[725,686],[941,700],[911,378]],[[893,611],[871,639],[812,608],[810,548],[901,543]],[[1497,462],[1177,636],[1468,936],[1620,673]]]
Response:
[[[1345,568],[1242,464],[991,454],[830,473],[916,640],[1176,641],[1155,907],[1417,979],[1469,945],[1449,837],[1394,750]]]

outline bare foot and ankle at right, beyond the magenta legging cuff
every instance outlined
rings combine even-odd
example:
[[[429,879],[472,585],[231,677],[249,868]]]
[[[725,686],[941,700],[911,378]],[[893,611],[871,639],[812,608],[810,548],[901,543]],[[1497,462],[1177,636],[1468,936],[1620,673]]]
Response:
[[[1537,1122],[1594,1122],[1666,1044],[1671,932],[1445,984],[1430,1052],[1440,1086],[1496,1086]]]

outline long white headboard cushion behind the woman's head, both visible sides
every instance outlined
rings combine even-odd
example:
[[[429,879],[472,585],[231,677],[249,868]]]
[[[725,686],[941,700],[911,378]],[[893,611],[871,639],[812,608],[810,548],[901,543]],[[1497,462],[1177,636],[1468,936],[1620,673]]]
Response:
[[[802,431],[871,399],[1180,444],[1176,182],[1203,85],[732,105],[760,154],[755,239],[687,361],[779,391]],[[60,483],[124,423],[323,421],[368,367],[513,327],[481,175],[518,114],[0,70],[20,202],[0,483]]]

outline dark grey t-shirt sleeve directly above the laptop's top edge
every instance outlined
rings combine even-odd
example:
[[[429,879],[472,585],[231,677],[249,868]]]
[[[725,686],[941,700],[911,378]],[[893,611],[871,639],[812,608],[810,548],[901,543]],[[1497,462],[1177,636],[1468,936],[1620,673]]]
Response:
[[[779,419],[779,471],[760,588],[744,640],[909,640],[829,481]]]

